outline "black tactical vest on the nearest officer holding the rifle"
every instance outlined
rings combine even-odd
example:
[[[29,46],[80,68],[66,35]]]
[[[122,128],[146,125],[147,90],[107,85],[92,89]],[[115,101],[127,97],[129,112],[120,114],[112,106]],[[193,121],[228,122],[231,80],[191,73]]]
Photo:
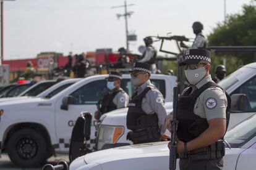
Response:
[[[192,87],[190,87],[179,98],[177,102],[177,120],[179,121],[179,126],[177,127],[177,137],[179,140],[189,142],[190,140],[200,136],[200,134],[202,134],[202,132],[208,128],[207,119],[200,118],[200,116],[195,115],[194,105],[197,97],[211,86],[220,87],[213,81],[209,81],[200,87],[200,89],[195,90],[191,95],[189,95],[192,91]],[[226,92],[225,94],[228,99],[228,107],[226,109],[226,129],[228,129],[231,99]]]

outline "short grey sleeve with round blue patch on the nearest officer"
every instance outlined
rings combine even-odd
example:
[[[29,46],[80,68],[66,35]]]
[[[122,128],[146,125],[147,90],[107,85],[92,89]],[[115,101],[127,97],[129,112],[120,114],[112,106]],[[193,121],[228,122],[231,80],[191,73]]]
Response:
[[[210,87],[203,96],[203,107],[207,120],[215,118],[226,119],[228,105],[225,92],[219,87]]]

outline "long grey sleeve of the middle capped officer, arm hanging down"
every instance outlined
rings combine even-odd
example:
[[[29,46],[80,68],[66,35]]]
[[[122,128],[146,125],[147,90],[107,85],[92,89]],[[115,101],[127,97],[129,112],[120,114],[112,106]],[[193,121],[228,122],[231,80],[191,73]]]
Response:
[[[150,99],[150,107],[155,111],[156,115],[158,115],[158,126],[161,129],[161,134],[164,134],[166,131],[166,127],[164,126],[164,119],[167,116],[166,110],[164,108],[164,99],[163,95],[158,91],[148,91],[146,95],[150,95],[147,97]]]

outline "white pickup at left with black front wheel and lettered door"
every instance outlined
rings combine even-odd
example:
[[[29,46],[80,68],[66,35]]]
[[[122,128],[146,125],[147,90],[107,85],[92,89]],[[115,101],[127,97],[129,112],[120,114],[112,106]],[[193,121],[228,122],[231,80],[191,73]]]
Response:
[[[19,167],[35,167],[53,153],[68,153],[75,120],[82,111],[94,113],[96,103],[108,92],[108,75],[89,76],[51,98],[2,102],[0,146]],[[171,101],[176,77],[151,75],[151,82]],[[130,96],[134,89],[130,75],[122,75],[122,89]],[[91,139],[95,137],[92,127]]]

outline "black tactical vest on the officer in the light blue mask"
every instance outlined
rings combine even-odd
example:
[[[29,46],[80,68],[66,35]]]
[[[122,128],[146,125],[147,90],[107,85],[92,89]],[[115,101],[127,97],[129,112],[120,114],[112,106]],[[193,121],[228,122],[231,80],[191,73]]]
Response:
[[[113,99],[119,92],[124,91],[122,89],[119,89],[117,91],[114,91],[113,93],[108,93],[103,97],[103,99],[101,100],[100,108],[101,114],[117,109],[117,105],[113,102]]]

